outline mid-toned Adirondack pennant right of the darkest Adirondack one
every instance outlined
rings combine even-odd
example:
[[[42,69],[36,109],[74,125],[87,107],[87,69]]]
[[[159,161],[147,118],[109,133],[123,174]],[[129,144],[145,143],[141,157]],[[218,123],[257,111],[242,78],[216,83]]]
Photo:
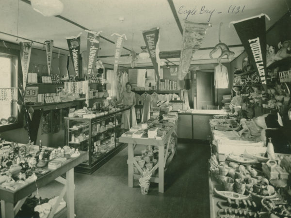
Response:
[[[94,63],[96,62],[98,51],[99,51],[99,32],[95,31],[88,31],[88,36],[87,36],[87,57],[86,57],[86,62],[87,62],[87,75],[89,76],[91,73],[93,73],[93,67]]]

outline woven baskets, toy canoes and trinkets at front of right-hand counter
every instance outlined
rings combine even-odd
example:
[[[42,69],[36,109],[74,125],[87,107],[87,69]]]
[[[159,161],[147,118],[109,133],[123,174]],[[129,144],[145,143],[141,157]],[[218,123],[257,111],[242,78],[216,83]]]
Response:
[[[275,155],[275,159],[259,157],[255,164],[245,164],[239,159],[221,161],[215,156],[210,158],[210,171],[220,186],[214,188],[217,196],[227,199],[219,201],[221,209],[217,216],[235,215],[244,217],[261,217],[273,213],[278,217],[291,216],[291,193],[288,189],[288,175],[284,168],[291,155]],[[281,158],[284,159],[283,164]],[[243,158],[246,161],[247,157]],[[268,161],[264,163],[266,160]],[[260,161],[258,161],[260,160]],[[263,163],[261,163],[264,161]],[[285,163],[285,164],[284,164]],[[288,164],[290,169],[291,162]],[[263,166],[263,172],[261,167]],[[290,187],[289,187],[290,188]],[[267,209],[268,212],[264,212]]]

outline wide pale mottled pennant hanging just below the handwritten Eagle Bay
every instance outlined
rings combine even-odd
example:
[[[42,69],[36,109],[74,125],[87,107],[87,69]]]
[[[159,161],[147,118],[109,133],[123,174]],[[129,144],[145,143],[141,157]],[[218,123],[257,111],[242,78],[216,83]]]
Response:
[[[194,23],[185,20],[183,28],[183,40],[178,69],[178,79],[182,80],[188,73],[192,55],[201,46],[210,23]]]

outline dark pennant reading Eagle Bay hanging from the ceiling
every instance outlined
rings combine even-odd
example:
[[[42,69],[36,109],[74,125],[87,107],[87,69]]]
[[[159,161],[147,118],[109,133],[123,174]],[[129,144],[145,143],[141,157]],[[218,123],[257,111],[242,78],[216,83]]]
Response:
[[[157,80],[160,81],[160,65],[161,65],[161,60],[160,60],[160,49],[159,49],[159,42],[160,42],[160,37],[159,37],[159,27],[150,29],[148,31],[143,31],[144,39],[146,42],[146,47],[149,52],[149,57],[153,63],[155,72],[156,72],[156,77]]]

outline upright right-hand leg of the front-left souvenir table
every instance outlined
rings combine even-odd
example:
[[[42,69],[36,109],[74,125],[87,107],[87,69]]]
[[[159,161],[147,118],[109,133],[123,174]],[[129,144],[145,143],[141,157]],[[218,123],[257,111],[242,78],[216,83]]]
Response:
[[[67,218],[74,218],[74,168],[66,172],[66,206]]]

